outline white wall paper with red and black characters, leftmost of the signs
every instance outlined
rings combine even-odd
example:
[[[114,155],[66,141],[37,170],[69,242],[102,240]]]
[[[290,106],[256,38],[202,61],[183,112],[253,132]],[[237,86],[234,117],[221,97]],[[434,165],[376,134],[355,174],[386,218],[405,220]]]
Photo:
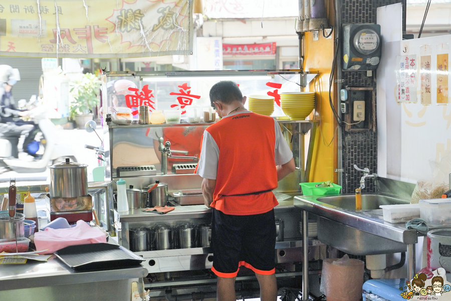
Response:
[[[416,55],[401,55],[396,58],[396,99],[398,102],[416,102]]]

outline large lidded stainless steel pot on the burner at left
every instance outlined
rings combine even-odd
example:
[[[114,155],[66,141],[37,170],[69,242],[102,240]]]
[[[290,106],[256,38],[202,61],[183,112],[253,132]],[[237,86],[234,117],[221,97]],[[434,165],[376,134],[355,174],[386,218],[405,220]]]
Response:
[[[88,172],[86,164],[70,162],[49,166],[50,197],[78,198],[88,195]]]

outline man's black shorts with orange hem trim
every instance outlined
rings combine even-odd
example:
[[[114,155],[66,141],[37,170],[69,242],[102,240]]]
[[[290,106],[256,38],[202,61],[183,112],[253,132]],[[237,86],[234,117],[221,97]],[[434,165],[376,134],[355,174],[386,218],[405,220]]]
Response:
[[[228,215],[213,208],[211,246],[211,270],[219,277],[237,276],[241,265],[258,274],[274,274],[274,210],[255,215]]]

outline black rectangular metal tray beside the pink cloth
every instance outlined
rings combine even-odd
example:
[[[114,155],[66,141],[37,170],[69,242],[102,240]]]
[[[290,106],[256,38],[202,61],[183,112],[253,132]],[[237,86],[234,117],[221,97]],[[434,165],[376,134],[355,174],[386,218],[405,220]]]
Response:
[[[136,265],[145,260],[122,246],[108,243],[69,246],[54,254],[75,270]]]

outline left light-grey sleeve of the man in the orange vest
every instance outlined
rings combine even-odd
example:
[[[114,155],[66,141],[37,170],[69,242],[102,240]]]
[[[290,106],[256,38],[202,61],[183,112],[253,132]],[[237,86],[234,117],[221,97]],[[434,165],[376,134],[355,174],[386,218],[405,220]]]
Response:
[[[204,179],[216,180],[219,147],[206,130],[203,132],[202,150],[197,163],[197,175]]]

